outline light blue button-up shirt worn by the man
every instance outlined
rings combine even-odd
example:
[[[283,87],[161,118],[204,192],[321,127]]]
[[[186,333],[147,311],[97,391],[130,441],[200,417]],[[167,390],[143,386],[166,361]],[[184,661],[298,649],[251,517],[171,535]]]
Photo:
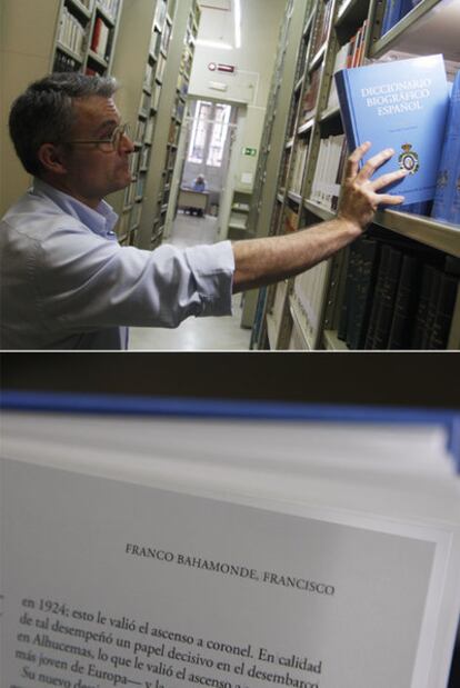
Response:
[[[128,326],[231,313],[229,241],[121,247],[117,219],[34,180],[0,222],[2,349],[121,349]]]

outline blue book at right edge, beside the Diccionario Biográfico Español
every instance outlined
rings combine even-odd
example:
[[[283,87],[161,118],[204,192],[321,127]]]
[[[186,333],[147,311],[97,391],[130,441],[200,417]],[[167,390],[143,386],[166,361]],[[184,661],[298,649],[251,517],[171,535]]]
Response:
[[[450,97],[431,217],[460,225],[460,72],[457,72]]]

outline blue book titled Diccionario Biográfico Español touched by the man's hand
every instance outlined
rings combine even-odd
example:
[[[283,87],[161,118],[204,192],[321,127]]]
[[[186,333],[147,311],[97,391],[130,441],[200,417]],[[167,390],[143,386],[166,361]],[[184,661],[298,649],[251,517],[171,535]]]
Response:
[[[442,56],[342,69],[336,83],[349,149],[371,141],[364,163],[392,148],[396,154],[377,173],[399,166],[410,175],[388,190],[406,205],[431,200],[449,107]]]

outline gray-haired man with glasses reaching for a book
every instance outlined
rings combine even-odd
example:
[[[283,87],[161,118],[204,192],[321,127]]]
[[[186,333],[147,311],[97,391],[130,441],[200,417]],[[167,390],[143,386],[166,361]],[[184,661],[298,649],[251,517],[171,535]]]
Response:
[[[13,103],[10,134],[33,186],[0,223],[3,349],[123,349],[127,328],[177,327],[189,316],[231,313],[234,291],[297,275],[356,239],[398,171],[371,180],[391,157],[358,171],[350,156],[338,218],[289,237],[221,241],[179,250],[120,247],[103,200],[126,188],[133,142],[113,100],[112,78],[59,73]]]

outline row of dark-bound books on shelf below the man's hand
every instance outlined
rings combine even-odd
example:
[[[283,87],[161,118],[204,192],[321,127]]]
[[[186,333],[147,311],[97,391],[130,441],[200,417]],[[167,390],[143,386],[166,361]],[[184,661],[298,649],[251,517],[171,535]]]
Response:
[[[339,339],[350,349],[446,349],[459,275],[451,257],[359,239],[349,249]]]

